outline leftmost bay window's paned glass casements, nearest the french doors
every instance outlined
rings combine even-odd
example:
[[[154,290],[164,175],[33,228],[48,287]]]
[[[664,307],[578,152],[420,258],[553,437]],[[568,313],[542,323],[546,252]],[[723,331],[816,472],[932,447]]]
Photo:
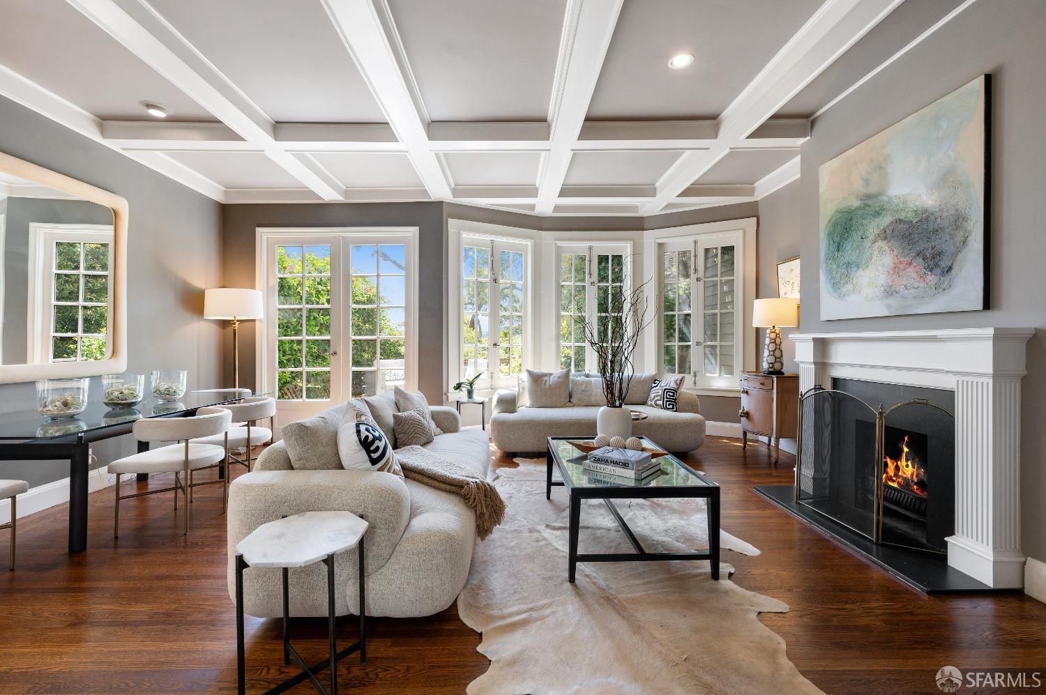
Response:
[[[465,236],[461,246],[461,376],[515,386],[526,347],[526,247]],[[493,330],[492,330],[493,328]]]

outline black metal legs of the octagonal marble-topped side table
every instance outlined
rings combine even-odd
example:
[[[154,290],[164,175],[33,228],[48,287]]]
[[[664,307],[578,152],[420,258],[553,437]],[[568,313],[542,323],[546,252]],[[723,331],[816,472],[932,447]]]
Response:
[[[275,688],[271,688],[266,691],[266,694],[272,693],[282,693],[291,688],[294,688],[300,682],[304,682],[308,678],[312,681],[313,687],[316,688],[317,692],[323,693],[323,695],[337,695],[338,693],[338,662],[348,656],[357,651],[360,652],[360,664],[367,663],[367,609],[366,609],[366,590],[364,588],[364,550],[363,550],[363,538],[360,538],[360,542],[357,546],[359,549],[360,556],[360,639],[345,647],[341,651],[338,651],[338,641],[335,635],[335,626],[337,624],[337,616],[335,616],[334,608],[334,553],[331,553],[325,558],[320,560],[327,567],[327,639],[329,640],[331,654],[321,662],[316,662],[313,665],[306,665],[305,661],[301,658],[298,651],[291,644],[291,611],[290,611],[290,592],[288,589],[288,569],[282,567],[282,579],[283,579],[283,665],[289,666],[291,664],[291,657],[297,662],[298,667],[301,669],[301,673],[291,676],[283,682],[279,684]],[[250,565],[244,560],[244,556],[241,553],[236,554],[236,692],[240,695],[244,695],[247,692],[247,676],[246,676],[246,653],[244,648],[244,570]],[[327,691],[320,684],[319,679],[316,677],[317,672],[323,669],[331,668],[331,690]]]

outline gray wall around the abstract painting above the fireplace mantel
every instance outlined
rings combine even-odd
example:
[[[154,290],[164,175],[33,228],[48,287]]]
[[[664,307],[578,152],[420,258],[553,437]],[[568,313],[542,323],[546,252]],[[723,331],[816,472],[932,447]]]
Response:
[[[802,147],[802,331],[1030,326],[1021,438],[1023,550],[1046,559],[1046,2],[977,2],[813,123]],[[993,76],[991,307],[819,320],[818,180],[823,162],[982,73]],[[855,75],[857,77],[857,75]]]

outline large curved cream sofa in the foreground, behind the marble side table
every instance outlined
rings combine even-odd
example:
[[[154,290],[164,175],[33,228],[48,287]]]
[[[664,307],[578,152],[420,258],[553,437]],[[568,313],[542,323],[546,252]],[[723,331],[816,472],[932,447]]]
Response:
[[[453,408],[431,410],[445,434],[426,448],[485,477],[491,461],[486,433],[462,431]],[[476,516],[460,496],[392,473],[293,470],[283,443],[276,442],[258,457],[252,472],[229,485],[229,596],[235,596],[236,543],[247,534],[283,515],[329,510],[350,511],[370,524],[365,536],[368,616],[431,616],[450,606],[464,586]],[[356,551],[337,556],[335,608],[339,616],[358,615],[357,571]],[[322,563],[290,571],[292,616],[326,616],[326,600]],[[244,610],[258,618],[283,615],[279,570],[244,573]]]

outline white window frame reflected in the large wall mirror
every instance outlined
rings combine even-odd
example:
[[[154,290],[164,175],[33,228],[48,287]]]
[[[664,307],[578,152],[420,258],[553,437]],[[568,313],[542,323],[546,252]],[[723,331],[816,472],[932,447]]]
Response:
[[[2,240],[2,238],[0,238]],[[29,286],[26,303],[26,357],[35,364],[60,364],[51,358],[51,322],[54,314],[54,248],[60,241],[108,244],[109,271],[106,295],[106,360],[112,358],[115,233],[112,225],[30,223],[28,244]],[[79,273],[83,275],[83,271]],[[2,300],[2,294],[0,294]],[[83,302],[79,302],[83,306]],[[91,306],[91,304],[88,304]],[[77,333],[79,334],[79,333]],[[99,362],[64,360],[62,363]]]

